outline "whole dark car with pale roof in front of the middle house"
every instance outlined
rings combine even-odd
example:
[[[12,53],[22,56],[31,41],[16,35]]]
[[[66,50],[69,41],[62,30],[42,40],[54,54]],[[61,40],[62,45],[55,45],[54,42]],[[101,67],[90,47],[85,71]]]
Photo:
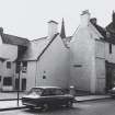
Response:
[[[47,110],[51,106],[71,107],[74,97],[70,94],[65,94],[61,88],[58,87],[35,87],[22,97],[22,104],[30,108],[41,107]]]

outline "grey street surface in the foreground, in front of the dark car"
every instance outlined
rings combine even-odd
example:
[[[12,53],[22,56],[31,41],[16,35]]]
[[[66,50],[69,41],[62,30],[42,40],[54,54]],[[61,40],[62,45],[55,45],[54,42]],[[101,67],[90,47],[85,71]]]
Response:
[[[0,115],[115,115],[115,100],[97,100],[80,102],[73,105],[73,108],[54,108],[47,112],[39,110],[15,110],[0,112]]]

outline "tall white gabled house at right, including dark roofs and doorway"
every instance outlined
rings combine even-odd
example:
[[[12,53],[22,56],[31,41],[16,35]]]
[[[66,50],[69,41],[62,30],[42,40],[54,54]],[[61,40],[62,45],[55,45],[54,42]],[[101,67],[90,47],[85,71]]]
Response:
[[[115,83],[115,16],[106,30],[90,16],[88,10],[82,12],[70,42],[71,84],[91,93],[105,93]]]

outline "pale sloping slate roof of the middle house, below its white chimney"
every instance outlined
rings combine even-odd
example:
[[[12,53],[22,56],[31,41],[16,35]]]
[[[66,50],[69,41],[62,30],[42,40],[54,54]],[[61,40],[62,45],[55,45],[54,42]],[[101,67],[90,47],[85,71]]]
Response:
[[[30,47],[21,58],[21,60],[37,60],[45,53],[45,50],[50,46],[53,41],[57,37],[55,34],[53,38],[42,37],[38,39],[31,41]]]

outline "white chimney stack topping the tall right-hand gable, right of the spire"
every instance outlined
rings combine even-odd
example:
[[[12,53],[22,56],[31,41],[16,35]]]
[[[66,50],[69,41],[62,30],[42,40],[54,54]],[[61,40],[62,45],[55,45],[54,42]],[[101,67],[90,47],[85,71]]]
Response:
[[[90,21],[90,12],[89,10],[82,11],[81,13],[81,26],[87,26]]]

